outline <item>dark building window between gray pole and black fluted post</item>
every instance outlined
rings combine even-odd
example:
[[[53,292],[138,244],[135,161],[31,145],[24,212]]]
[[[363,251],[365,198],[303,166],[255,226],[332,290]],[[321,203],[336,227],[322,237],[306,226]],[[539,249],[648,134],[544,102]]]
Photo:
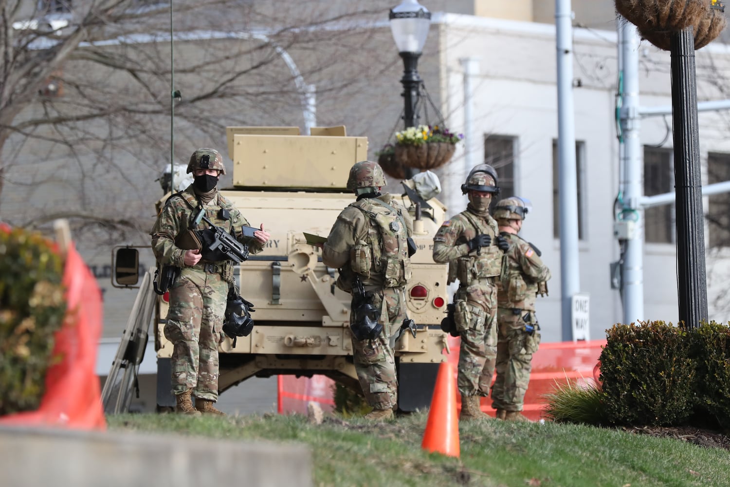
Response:
[[[669,193],[675,187],[672,149],[644,147],[644,194]],[[644,211],[645,239],[650,243],[675,241],[675,204],[662,204]]]

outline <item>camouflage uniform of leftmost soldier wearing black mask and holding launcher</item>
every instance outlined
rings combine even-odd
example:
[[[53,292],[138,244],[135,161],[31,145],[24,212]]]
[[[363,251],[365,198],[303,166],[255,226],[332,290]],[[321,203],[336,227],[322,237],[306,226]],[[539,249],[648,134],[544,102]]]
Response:
[[[169,289],[169,310],[164,327],[165,337],[174,347],[172,392],[179,395],[192,390],[197,398],[215,401],[218,399],[218,345],[225,337],[223,313],[228,284],[233,280],[233,263],[201,258],[198,264],[185,266],[185,250],[176,245],[176,240],[180,243],[180,237],[191,229],[200,206],[216,226],[228,231],[233,227],[239,242],[249,245],[251,253],[261,251],[261,244],[256,239],[242,237],[241,226],[248,226],[248,222],[228,199],[214,192],[207,204],[201,204],[193,185],[170,196],[150,232],[158,262],[182,268]],[[228,220],[221,218],[221,209],[228,210]],[[195,227],[206,228],[204,222]]]

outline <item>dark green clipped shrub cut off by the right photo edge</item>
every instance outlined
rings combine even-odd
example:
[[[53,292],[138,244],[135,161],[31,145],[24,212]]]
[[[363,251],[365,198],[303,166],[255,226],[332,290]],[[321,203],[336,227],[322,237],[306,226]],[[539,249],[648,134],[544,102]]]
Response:
[[[691,342],[697,364],[697,416],[709,415],[730,428],[730,328],[714,321],[703,323],[692,331]]]

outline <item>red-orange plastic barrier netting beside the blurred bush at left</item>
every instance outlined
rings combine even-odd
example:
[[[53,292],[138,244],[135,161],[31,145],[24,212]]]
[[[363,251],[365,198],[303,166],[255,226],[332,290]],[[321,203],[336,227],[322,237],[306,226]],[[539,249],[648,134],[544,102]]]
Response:
[[[54,335],[53,347],[53,356],[61,361],[46,372],[38,410],[0,417],[0,424],[107,428],[94,370],[101,335],[101,291],[73,245],[66,256],[63,281],[68,311],[64,325]]]

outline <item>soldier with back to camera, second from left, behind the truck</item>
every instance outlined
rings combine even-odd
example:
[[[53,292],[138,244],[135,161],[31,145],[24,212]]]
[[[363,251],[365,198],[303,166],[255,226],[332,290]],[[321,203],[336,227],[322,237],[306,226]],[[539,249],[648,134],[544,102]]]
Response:
[[[323,263],[339,269],[339,288],[351,292],[358,275],[364,290],[373,294],[372,304],[380,309],[383,331],[373,340],[358,340],[354,332],[352,337],[358,379],[373,407],[365,417],[375,421],[393,418],[397,402],[392,342],[406,318],[404,285],[411,275],[407,238],[413,231],[408,212],[389,193],[380,193],[384,185],[385,175],[377,163],[353,165],[347,189],[356,193],[357,201],[339,214],[322,252]],[[358,326],[355,314],[350,314],[351,327]]]

